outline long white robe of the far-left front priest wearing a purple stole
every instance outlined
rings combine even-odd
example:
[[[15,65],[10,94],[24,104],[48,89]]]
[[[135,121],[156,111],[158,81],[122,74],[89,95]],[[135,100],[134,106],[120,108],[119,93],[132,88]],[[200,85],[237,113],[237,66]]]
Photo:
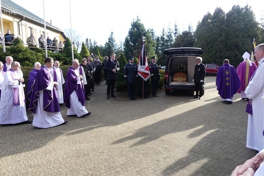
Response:
[[[19,78],[20,75],[16,71],[14,75],[11,74],[11,71],[5,73],[0,101],[0,124],[16,124],[27,121],[23,85],[16,80]],[[18,88],[20,105],[13,104],[14,88]]]

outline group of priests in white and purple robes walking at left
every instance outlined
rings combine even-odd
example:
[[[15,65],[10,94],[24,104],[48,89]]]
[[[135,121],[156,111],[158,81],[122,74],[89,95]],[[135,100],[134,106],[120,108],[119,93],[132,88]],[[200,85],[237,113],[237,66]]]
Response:
[[[86,117],[91,114],[85,105],[85,90],[82,69],[79,60],[74,59],[69,67],[66,79],[63,79],[59,62],[53,66],[53,58],[47,57],[44,65],[35,63],[29,73],[28,90],[24,94],[24,79],[20,63],[6,57],[6,63],[0,62],[0,124],[29,124],[37,128],[50,128],[68,123],[60,114],[60,104],[65,103],[68,116]],[[5,72],[4,72],[5,71]],[[62,84],[65,84],[62,91]],[[29,121],[26,115],[25,98],[29,100],[28,111],[34,115]]]

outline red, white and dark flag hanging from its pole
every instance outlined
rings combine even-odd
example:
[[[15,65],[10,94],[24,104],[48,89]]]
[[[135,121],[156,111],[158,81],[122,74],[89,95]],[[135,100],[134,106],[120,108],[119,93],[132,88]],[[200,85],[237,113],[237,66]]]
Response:
[[[148,61],[145,51],[145,41],[142,42],[142,49],[139,54],[139,63],[138,63],[138,75],[144,80],[147,81],[150,77]]]

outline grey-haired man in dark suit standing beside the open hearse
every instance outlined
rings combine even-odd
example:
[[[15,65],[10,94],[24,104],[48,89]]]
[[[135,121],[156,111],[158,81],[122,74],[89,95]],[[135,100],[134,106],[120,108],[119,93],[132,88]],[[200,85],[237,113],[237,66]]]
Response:
[[[203,96],[203,85],[205,81],[205,65],[202,63],[202,57],[196,57],[196,65],[194,68],[194,75],[192,82],[195,84],[195,96],[194,99],[202,99]]]

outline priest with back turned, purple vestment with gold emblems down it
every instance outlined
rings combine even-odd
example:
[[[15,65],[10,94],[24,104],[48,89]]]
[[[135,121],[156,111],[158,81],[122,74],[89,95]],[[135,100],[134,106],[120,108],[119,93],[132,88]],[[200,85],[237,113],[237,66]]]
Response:
[[[228,59],[225,59],[223,65],[218,69],[216,86],[218,94],[223,101],[231,104],[233,102],[233,95],[237,93],[241,84],[235,67],[229,64]]]

